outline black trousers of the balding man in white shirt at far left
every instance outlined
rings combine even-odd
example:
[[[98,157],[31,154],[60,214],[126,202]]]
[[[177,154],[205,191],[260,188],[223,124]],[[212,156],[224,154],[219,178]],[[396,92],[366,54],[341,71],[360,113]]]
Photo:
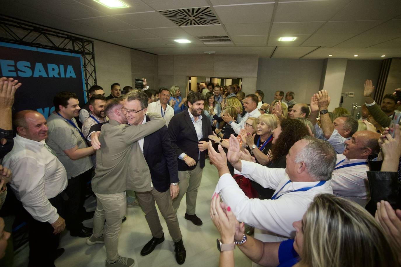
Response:
[[[64,218],[65,201],[61,194],[49,199],[57,213]],[[54,267],[56,250],[60,244],[60,234],[53,234],[50,223],[36,221],[30,217],[29,264],[28,267]]]

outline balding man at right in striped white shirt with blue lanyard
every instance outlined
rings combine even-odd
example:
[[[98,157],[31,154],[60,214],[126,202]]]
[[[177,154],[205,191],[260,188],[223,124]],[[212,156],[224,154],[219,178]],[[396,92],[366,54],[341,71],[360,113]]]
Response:
[[[331,187],[334,195],[355,201],[362,207],[371,199],[366,172],[368,156],[379,153],[380,134],[373,131],[357,131],[345,141],[342,154],[337,154]]]

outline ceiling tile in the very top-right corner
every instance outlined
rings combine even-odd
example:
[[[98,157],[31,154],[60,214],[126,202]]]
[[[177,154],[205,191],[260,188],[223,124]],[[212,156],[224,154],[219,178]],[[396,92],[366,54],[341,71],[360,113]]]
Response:
[[[386,20],[399,16],[399,0],[354,0],[331,20]]]

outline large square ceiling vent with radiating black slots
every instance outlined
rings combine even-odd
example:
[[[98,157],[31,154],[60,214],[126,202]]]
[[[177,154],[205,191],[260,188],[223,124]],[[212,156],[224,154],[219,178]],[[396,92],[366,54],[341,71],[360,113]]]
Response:
[[[209,7],[183,8],[160,11],[178,26],[220,24],[219,19]]]

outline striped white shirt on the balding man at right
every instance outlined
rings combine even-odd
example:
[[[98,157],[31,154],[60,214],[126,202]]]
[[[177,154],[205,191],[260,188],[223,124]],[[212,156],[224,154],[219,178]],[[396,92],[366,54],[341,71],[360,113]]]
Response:
[[[341,162],[344,160],[343,162]],[[340,163],[341,162],[341,163]],[[338,168],[352,163],[366,163],[349,167]],[[355,201],[362,207],[371,199],[368,176],[369,165],[366,159],[347,159],[342,154],[337,154],[337,165],[333,171],[331,187],[334,195]]]

